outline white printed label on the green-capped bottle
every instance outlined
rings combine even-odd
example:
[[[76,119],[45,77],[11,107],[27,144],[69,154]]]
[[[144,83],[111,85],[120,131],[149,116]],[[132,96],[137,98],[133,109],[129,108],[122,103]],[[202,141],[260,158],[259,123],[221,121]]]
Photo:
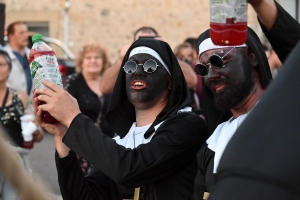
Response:
[[[62,88],[62,80],[58,69],[57,58],[51,55],[42,55],[30,64],[33,88],[45,87],[42,80],[51,81]]]

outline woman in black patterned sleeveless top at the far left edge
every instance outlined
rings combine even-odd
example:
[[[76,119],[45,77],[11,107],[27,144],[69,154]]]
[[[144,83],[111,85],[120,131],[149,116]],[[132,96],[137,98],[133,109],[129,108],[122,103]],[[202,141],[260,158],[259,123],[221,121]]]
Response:
[[[23,147],[20,117],[24,115],[24,109],[27,107],[28,96],[22,91],[17,91],[6,86],[6,81],[11,72],[11,68],[12,64],[9,55],[6,51],[0,50],[0,132],[4,129],[7,133],[8,137],[5,137],[7,143],[13,146]],[[40,142],[43,137],[44,131],[39,127],[33,133],[33,141]],[[4,152],[5,147],[3,144],[4,143],[1,143],[1,154],[3,156],[7,156]],[[3,173],[2,171],[6,170],[5,172],[7,172],[9,169],[16,169],[16,166],[10,164],[10,160],[2,159],[2,161],[5,162],[1,162],[2,165],[0,166],[0,196],[3,200],[17,200],[19,199],[19,193],[11,182],[7,181],[7,178],[10,179],[13,176],[13,173]],[[14,171],[14,173],[20,175],[19,171]],[[2,174],[5,174],[6,176],[4,177]],[[20,176],[18,178],[20,178]],[[16,179],[14,179],[12,183],[15,183],[15,181]],[[22,187],[23,186],[26,188],[26,184],[23,184]]]

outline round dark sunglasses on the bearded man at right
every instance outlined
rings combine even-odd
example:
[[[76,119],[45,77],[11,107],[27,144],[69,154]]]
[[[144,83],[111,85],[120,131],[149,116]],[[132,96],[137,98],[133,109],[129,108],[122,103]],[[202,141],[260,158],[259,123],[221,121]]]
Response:
[[[225,58],[225,56],[227,56],[235,47],[233,47],[232,49],[230,49],[224,56],[219,56],[218,54],[213,54],[209,57],[209,61],[210,63],[208,64],[203,64],[203,63],[197,63],[195,65],[194,71],[196,72],[196,74],[200,75],[200,76],[206,76],[208,74],[208,68],[209,65],[210,66],[214,66],[217,69],[221,69],[223,67],[225,67],[225,65],[223,64],[223,58]]]

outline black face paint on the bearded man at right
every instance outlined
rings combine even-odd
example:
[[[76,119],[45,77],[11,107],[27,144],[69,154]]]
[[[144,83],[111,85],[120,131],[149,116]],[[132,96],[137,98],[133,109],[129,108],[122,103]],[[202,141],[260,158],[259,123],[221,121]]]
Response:
[[[226,66],[218,71],[221,77],[214,81],[205,80],[206,85],[214,93],[214,104],[220,110],[229,110],[245,99],[254,87],[254,71],[245,55],[233,54]],[[225,84],[216,91],[217,85]]]

